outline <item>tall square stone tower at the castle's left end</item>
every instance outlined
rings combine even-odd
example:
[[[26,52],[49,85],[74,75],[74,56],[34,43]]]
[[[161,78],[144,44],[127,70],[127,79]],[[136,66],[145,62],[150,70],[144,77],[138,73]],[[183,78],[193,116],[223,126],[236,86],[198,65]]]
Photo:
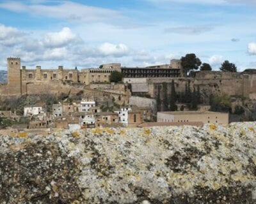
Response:
[[[21,94],[20,58],[7,59],[9,94]]]

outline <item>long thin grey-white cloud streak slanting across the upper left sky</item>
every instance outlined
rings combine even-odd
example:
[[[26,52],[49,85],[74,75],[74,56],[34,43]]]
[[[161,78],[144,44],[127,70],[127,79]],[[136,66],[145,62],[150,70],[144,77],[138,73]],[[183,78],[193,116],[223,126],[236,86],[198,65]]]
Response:
[[[40,4],[40,1],[37,1],[32,4],[22,4],[6,1],[0,3],[0,8],[79,22],[110,22],[122,18],[120,12],[111,9],[86,6],[70,1],[56,1],[55,3],[57,4]]]

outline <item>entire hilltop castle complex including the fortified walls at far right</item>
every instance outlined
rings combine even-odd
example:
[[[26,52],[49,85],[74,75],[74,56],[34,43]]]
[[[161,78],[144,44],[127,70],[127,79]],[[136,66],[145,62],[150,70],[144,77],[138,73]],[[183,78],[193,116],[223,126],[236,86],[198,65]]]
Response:
[[[197,71],[192,77],[184,77],[181,62],[173,59],[170,64],[148,66],[146,68],[121,67],[119,63],[102,64],[99,68],[77,70],[63,69],[20,69],[20,58],[8,58],[8,84],[0,86],[1,96],[38,94],[49,91],[56,94],[70,91],[84,90],[86,85],[93,83],[108,83],[113,71],[122,71],[124,83],[131,84],[132,92],[143,92],[156,98],[161,91],[161,85],[167,84],[170,94],[170,83],[175,82],[177,92],[185,89],[189,81],[191,88],[195,85],[207,94],[218,95],[227,93],[230,95],[242,95],[256,98],[256,71],[246,70],[242,73],[230,73],[223,71]],[[79,90],[77,89],[79,88]],[[89,88],[90,89],[90,88]],[[90,91],[93,91],[92,89]]]

